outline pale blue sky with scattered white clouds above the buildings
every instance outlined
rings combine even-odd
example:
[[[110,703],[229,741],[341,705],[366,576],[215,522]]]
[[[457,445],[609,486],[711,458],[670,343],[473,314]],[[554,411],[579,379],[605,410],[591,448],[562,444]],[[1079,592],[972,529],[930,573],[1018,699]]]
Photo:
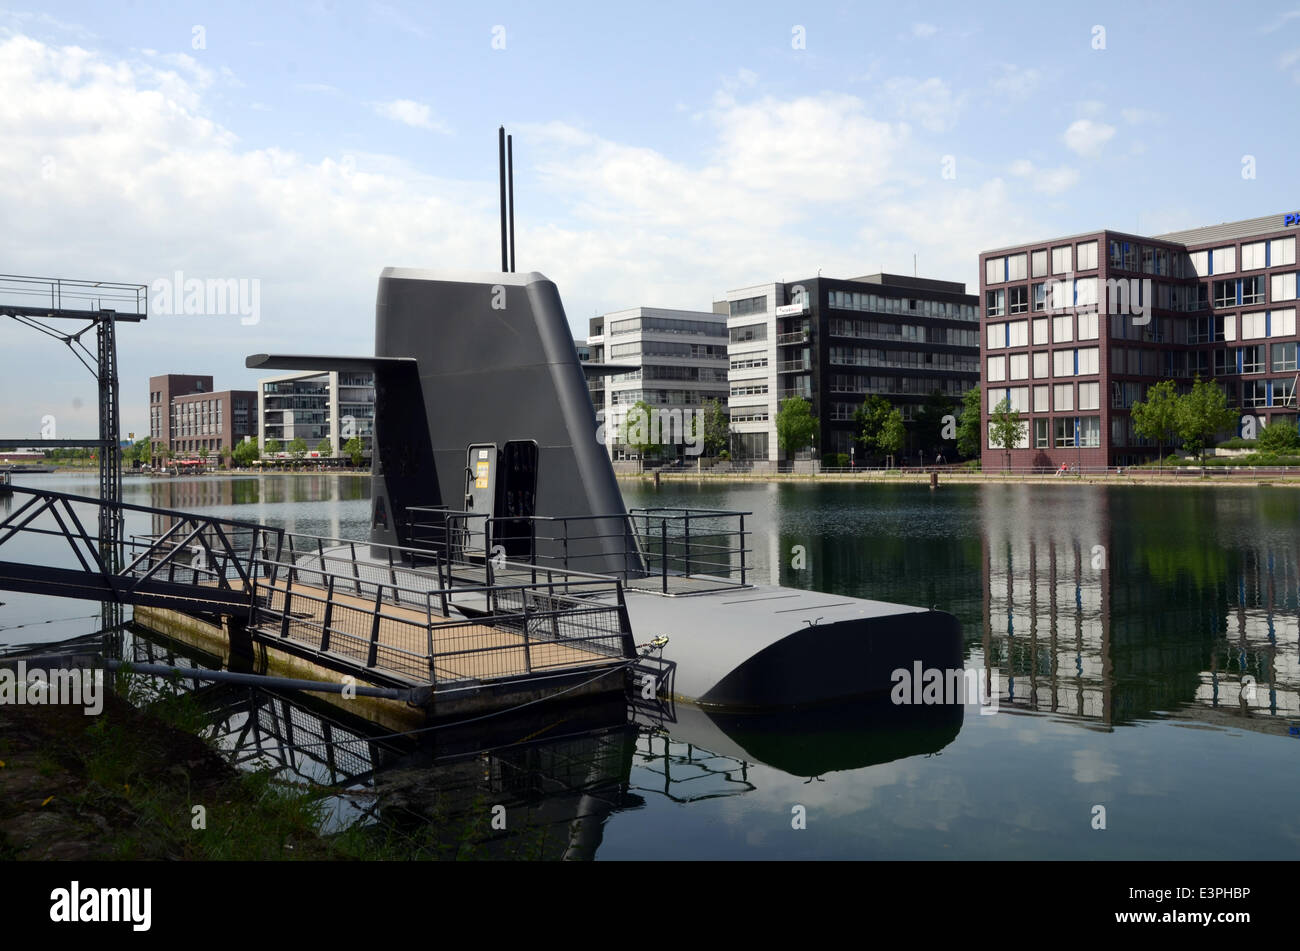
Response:
[[[0,273],[148,287],[118,330],[139,437],[150,375],[373,353],[385,266],[499,269],[499,125],[517,269],[585,336],[818,272],[974,288],[982,249],[1300,210],[1297,101],[1297,0],[8,6]],[[246,305],[169,308],[178,274]],[[62,344],[0,321],[0,435],[95,412]]]

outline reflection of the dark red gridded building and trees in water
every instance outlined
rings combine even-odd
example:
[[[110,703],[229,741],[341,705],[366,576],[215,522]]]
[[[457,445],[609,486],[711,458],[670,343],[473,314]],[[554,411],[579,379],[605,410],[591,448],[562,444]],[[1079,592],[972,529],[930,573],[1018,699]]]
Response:
[[[1041,491],[983,496],[982,647],[1002,705],[1102,728],[1178,709],[1288,730],[1300,716],[1294,542],[1225,537],[1230,500],[1162,500],[1170,517],[1152,535],[1134,526],[1154,490],[1062,487],[1050,520]]]

